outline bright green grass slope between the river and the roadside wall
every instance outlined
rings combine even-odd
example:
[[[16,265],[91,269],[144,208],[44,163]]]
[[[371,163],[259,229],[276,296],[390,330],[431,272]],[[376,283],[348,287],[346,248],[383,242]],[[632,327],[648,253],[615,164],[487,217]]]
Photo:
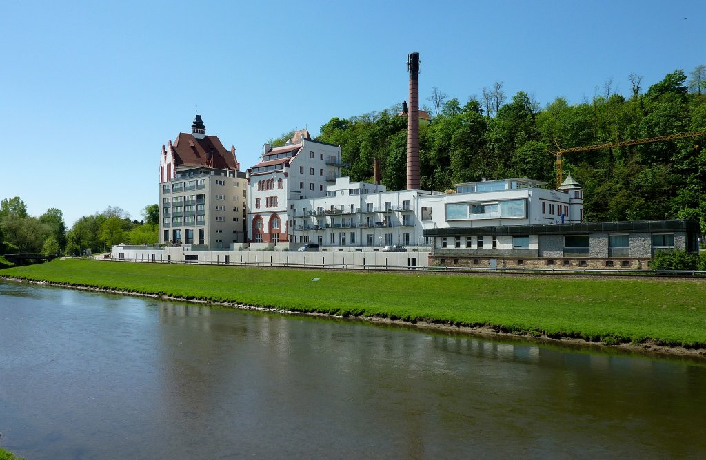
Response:
[[[338,272],[54,260],[7,277],[214,302],[706,348],[706,282]],[[319,281],[313,282],[313,278]]]

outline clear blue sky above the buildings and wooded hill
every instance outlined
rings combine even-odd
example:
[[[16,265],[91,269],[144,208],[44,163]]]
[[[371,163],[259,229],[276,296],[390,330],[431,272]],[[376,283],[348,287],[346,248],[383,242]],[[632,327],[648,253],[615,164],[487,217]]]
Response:
[[[542,104],[643,86],[706,63],[702,1],[0,2],[0,198],[66,224],[158,198],[162,144],[189,132],[235,145],[244,169],[294,128],[407,96],[465,102],[502,81]],[[600,91],[600,90],[599,90]]]

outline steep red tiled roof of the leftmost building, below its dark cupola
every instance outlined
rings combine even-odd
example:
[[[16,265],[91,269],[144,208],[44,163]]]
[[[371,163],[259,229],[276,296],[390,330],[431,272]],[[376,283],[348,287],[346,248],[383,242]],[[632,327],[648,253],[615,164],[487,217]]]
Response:
[[[179,133],[172,144],[177,167],[209,167],[237,171],[235,155],[225,150],[217,136],[197,139],[191,134]]]

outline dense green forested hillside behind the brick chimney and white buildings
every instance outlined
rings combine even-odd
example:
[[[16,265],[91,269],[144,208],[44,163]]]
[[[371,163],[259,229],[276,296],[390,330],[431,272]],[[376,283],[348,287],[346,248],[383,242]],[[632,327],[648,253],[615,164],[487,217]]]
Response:
[[[620,142],[658,135],[706,131],[706,67],[689,78],[677,70],[642,90],[622,95],[604,84],[602,94],[579,104],[558,97],[543,109],[525,92],[505,100],[502,84],[481,99],[447,99],[434,88],[432,121],[422,124],[421,187],[453,188],[481,178],[526,176],[556,185],[555,157],[548,150]],[[371,181],[373,158],[381,159],[383,182],[405,188],[407,119],[398,107],[352,119],[331,119],[318,140],[342,145],[343,174]],[[694,219],[706,232],[706,136],[664,141],[563,157],[585,189],[588,221]]]

